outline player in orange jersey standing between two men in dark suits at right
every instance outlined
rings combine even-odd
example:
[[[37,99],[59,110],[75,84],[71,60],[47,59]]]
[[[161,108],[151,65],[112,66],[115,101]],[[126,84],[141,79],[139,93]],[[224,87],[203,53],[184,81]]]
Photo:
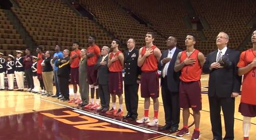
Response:
[[[203,53],[194,48],[194,44],[196,44],[196,35],[188,33],[185,40],[186,50],[178,53],[174,71],[181,71],[179,102],[180,108],[183,108],[183,128],[177,133],[177,136],[182,137],[190,134],[188,117],[190,116],[190,108],[192,108],[196,128],[191,139],[198,139],[200,136],[200,110],[202,108],[200,79],[205,58]]]

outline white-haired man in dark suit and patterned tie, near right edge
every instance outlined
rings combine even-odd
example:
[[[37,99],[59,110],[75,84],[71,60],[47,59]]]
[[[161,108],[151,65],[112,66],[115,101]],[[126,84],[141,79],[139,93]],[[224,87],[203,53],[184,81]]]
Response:
[[[208,99],[213,139],[222,139],[220,108],[223,110],[224,139],[234,139],[234,97],[240,92],[241,77],[237,63],[240,53],[227,47],[228,35],[220,32],[216,39],[218,50],[207,55],[204,73],[210,73]]]

